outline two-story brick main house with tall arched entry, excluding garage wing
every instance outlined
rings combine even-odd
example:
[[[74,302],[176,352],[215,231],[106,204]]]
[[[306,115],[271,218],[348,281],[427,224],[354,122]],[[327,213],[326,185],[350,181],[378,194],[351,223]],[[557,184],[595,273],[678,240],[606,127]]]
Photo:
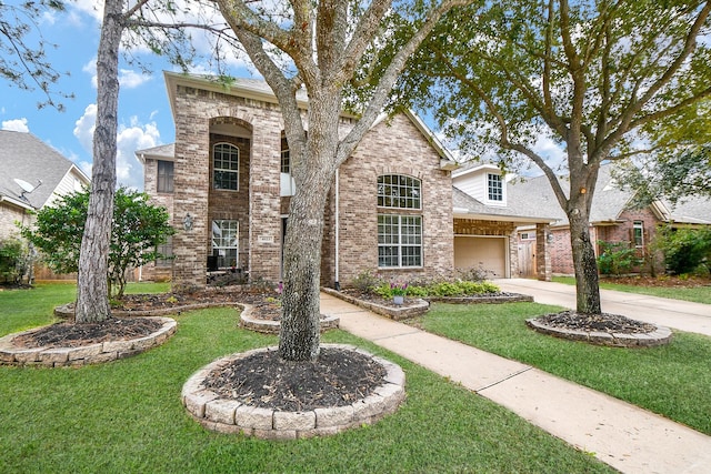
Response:
[[[278,282],[294,194],[289,145],[264,82],[229,88],[166,73],[176,143],[137,151],[146,192],[171,212],[172,261],[143,269],[178,288],[203,286],[209,271]],[[307,102],[300,97],[304,118]],[[342,132],[356,123],[343,113]],[[337,174],[326,210],[322,284],[348,285],[364,271],[392,279],[449,274],[454,266],[454,163],[412,113],[374,123]]]

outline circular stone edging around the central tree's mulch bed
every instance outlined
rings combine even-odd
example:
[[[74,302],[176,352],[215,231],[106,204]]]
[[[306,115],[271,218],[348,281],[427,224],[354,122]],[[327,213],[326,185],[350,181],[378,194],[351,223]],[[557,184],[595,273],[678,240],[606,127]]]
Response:
[[[399,365],[348,344],[322,344],[322,347],[356,351],[381,364],[387,375],[375,391],[350,405],[316,409],[306,412],[281,412],[243,405],[236,400],[220,397],[202,386],[210,372],[233,361],[259,352],[276,351],[261,347],[228,355],[196,372],[182,386],[181,399],[190,415],[208,430],[226,434],[242,433],[263,440],[297,440],[324,436],[372,424],[393,413],[404,400],[404,372]]]

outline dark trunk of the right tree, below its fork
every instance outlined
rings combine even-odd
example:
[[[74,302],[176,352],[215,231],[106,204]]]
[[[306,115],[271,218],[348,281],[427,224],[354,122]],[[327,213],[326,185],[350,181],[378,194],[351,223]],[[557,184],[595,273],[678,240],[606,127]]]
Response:
[[[568,212],[568,221],[575,271],[577,311],[582,314],[600,314],[598,261],[590,241],[589,214],[583,205],[574,206]]]

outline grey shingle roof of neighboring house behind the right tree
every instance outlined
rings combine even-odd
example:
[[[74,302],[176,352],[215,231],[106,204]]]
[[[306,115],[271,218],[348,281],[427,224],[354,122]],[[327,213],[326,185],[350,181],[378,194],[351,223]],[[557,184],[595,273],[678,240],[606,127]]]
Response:
[[[598,173],[595,192],[590,208],[590,222],[593,224],[617,222],[620,214],[631,205],[634,192],[620,186],[612,178],[613,164],[603,164]],[[565,186],[568,177],[560,177],[565,195],[569,189]],[[553,215],[554,225],[567,225],[568,216],[560,206],[548,178],[528,178],[525,181],[511,183],[509,191],[509,206],[519,208],[522,212],[541,212]],[[664,201],[655,201],[652,211],[661,221],[674,221],[680,223],[711,223],[711,201],[707,199],[690,198],[684,203],[672,208]]]

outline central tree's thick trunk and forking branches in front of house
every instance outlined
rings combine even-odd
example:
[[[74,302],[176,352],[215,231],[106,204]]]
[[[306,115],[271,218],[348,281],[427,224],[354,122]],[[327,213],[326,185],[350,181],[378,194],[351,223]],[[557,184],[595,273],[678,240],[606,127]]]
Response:
[[[338,167],[352,154],[381,113],[408,58],[440,17],[467,2],[394,6],[392,0],[217,0],[222,16],[279,100],[297,182],[284,243],[279,340],[283,360],[310,361],[319,353],[323,212]],[[404,27],[400,48],[392,54],[381,54],[390,51],[387,46],[392,44],[393,31],[383,26],[393,19]],[[339,130],[338,120],[344,91],[347,84],[362,79],[364,62],[383,62],[384,72],[370,78],[360,120],[344,133]],[[302,87],[309,97],[308,134],[296,97]]]

